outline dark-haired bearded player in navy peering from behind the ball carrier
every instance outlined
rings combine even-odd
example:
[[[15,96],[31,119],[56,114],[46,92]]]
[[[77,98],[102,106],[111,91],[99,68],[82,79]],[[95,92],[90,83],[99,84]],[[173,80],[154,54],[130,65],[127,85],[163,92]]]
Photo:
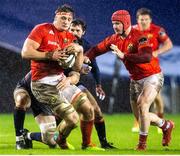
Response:
[[[70,25],[69,31],[78,38],[78,42],[80,45],[83,46],[84,52],[86,52],[88,49],[91,48],[90,43],[82,37],[86,31],[86,24],[84,21],[82,21],[80,19],[73,20]],[[91,73],[96,82],[96,95],[99,97],[100,100],[104,100],[105,92],[103,91],[103,89],[101,87],[100,71],[99,71],[99,67],[96,63],[96,60],[93,60],[89,65],[92,67]],[[88,73],[89,70],[87,69],[87,71],[85,71],[85,73],[86,72]],[[109,143],[106,139],[105,121],[104,121],[103,114],[101,112],[101,109],[100,109],[97,101],[95,100],[93,95],[88,91],[88,89],[82,84],[81,79],[80,79],[79,83],[77,84],[77,86],[84,93],[86,93],[89,101],[91,102],[91,104],[94,107],[94,111],[95,111],[94,124],[95,124],[95,128],[96,128],[96,131],[97,131],[97,134],[99,137],[99,141],[101,143],[101,147],[106,148],[106,149],[114,148],[114,146],[112,146],[112,144]]]

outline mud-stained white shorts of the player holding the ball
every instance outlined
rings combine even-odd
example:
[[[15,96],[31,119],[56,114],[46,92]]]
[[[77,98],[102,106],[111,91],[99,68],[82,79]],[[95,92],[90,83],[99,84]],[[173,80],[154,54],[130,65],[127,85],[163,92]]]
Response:
[[[75,85],[69,85],[63,91],[59,91],[56,85],[36,81],[31,83],[31,89],[40,103],[48,105],[61,118],[75,111],[70,102],[81,93],[81,90]]]

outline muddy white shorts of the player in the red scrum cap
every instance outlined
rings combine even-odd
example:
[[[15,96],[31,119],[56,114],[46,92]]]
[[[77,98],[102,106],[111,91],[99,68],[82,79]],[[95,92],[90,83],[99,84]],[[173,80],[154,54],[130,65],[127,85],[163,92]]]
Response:
[[[157,73],[141,80],[131,80],[130,82],[130,102],[137,101],[138,96],[142,90],[151,85],[159,93],[164,83],[164,76],[162,73]]]

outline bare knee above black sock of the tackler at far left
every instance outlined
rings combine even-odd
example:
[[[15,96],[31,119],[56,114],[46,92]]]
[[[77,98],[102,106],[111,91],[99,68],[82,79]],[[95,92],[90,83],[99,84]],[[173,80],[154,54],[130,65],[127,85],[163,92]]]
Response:
[[[15,105],[18,108],[26,109],[30,107],[31,99],[29,94],[26,92],[19,92],[15,94],[14,100],[15,100]]]

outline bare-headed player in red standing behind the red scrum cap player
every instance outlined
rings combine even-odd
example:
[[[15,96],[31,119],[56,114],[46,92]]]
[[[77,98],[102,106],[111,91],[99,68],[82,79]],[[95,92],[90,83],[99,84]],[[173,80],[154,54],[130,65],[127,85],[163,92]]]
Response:
[[[159,54],[163,54],[172,48],[173,45],[171,39],[166,34],[164,28],[152,23],[152,13],[149,9],[147,8],[138,9],[136,13],[136,19],[138,24],[134,25],[133,27],[141,31],[143,34],[145,34],[148,37],[150,45],[152,46],[153,55],[158,60]],[[154,102],[156,104],[157,115],[160,118],[163,118],[164,104],[160,93],[157,95]],[[139,128],[138,122],[135,121],[132,131],[133,130],[138,131],[138,128]],[[160,129],[158,129],[158,132],[162,132],[159,130]]]

